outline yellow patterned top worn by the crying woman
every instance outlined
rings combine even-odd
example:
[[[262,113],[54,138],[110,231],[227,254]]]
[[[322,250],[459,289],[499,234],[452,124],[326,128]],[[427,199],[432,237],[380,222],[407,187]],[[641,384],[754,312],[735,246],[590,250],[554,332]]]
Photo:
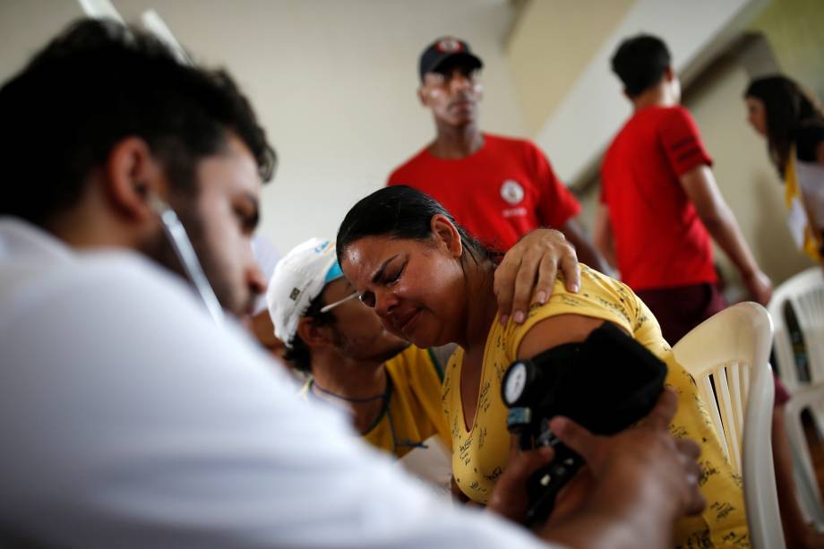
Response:
[[[471,429],[464,424],[460,400],[460,369],[463,349],[452,355],[443,382],[443,405],[451,426],[452,474],[460,489],[475,502],[485,503],[509,458],[510,434],[506,428],[508,409],[501,398],[501,380],[516,359],[518,347],[537,323],[558,314],[580,314],[614,322],[631,333],[644,347],[663,360],[666,384],[678,392],[678,412],[671,432],[701,444],[700,463],[704,475],[700,490],[707,509],[698,517],[681,519],[675,525],[675,542],[686,547],[748,547],[741,477],[724,458],[717,433],[703,407],[695,382],[675,362],[672,349],[661,336],[649,309],[629,287],[581,265],[579,294],[571,294],[556,280],[552,297],[545,305],[533,305],[527,322],[509,322],[502,327],[497,318],[489,330],[484,350],[476,415]]]

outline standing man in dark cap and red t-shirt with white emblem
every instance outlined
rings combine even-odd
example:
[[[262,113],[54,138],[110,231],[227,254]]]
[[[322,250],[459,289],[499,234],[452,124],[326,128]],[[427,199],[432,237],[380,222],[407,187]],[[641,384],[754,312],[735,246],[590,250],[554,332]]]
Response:
[[[397,168],[388,184],[408,184],[441,202],[481,242],[505,252],[537,227],[554,227],[581,262],[604,270],[575,216],[580,205],[535,144],[481,133],[483,66],[466,42],[442,38],[420,58],[418,97],[432,110],[437,135]]]

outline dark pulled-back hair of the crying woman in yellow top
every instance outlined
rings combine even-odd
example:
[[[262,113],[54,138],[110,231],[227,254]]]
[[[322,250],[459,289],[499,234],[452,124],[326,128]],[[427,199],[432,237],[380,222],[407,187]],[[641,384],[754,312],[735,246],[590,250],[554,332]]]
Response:
[[[358,201],[338,229],[338,262],[349,244],[366,236],[426,240],[432,236],[433,216],[441,214],[458,229],[460,242],[476,263],[492,259],[495,252],[461,227],[438,201],[407,185],[383,187]]]

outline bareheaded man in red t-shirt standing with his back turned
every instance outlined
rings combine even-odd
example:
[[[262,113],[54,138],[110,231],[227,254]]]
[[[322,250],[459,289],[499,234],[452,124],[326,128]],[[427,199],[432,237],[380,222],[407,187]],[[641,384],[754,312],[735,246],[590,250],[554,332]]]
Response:
[[[753,298],[772,292],[718,191],[698,126],[679,105],[681,86],[661,39],[626,39],[612,59],[633,107],[606,151],[595,240],[675,343],[726,306],[710,236]]]

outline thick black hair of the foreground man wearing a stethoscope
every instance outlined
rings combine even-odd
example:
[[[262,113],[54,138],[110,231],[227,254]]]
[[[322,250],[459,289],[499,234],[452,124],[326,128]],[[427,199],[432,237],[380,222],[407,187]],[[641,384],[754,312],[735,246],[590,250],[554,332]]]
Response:
[[[264,181],[276,163],[252,107],[224,71],[180,64],[158,39],[115,21],[76,21],[0,89],[0,213],[43,225],[80,200],[93,168],[137,136],[176,190],[235,133]]]

